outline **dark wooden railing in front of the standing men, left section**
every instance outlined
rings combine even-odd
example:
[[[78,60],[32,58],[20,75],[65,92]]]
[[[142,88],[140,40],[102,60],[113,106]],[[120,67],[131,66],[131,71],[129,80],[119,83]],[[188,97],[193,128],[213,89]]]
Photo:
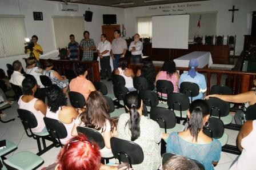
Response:
[[[41,64],[45,62],[46,59],[40,59]],[[86,61],[86,62],[78,62],[78,61],[70,61],[70,60],[53,60],[53,65],[57,68],[59,74],[65,75],[65,70],[73,70],[75,67],[75,72],[77,72],[78,64],[85,64],[88,67],[88,75],[87,79],[91,82],[100,81],[101,77],[99,74],[99,63],[97,61]]]

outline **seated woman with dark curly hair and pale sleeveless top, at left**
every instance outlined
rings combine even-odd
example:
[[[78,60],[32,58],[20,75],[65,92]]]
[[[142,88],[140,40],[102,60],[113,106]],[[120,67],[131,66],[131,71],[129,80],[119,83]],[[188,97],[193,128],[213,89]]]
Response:
[[[49,87],[46,92],[48,108],[46,117],[62,122],[67,130],[67,136],[61,139],[62,144],[66,144],[71,136],[71,130],[77,119],[78,112],[71,106],[67,106],[66,96],[57,85]]]

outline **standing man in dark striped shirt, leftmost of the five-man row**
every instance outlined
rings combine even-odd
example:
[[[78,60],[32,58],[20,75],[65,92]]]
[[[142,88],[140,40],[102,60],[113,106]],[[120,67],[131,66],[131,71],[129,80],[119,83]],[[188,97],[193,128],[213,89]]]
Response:
[[[69,35],[70,42],[67,45],[67,55],[70,60],[79,60],[79,44],[75,41],[73,34]]]

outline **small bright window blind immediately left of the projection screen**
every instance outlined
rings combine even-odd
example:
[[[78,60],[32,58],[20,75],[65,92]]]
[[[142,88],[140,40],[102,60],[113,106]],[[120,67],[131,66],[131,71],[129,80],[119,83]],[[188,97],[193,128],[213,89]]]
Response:
[[[137,18],[137,29],[141,37],[152,37],[152,17]]]

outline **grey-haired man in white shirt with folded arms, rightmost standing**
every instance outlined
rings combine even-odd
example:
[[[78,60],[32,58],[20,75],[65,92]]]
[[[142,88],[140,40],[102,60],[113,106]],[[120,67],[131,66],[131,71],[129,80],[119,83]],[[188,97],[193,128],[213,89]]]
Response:
[[[131,63],[141,63],[143,43],[139,41],[139,34],[134,35],[134,41],[130,43]]]

